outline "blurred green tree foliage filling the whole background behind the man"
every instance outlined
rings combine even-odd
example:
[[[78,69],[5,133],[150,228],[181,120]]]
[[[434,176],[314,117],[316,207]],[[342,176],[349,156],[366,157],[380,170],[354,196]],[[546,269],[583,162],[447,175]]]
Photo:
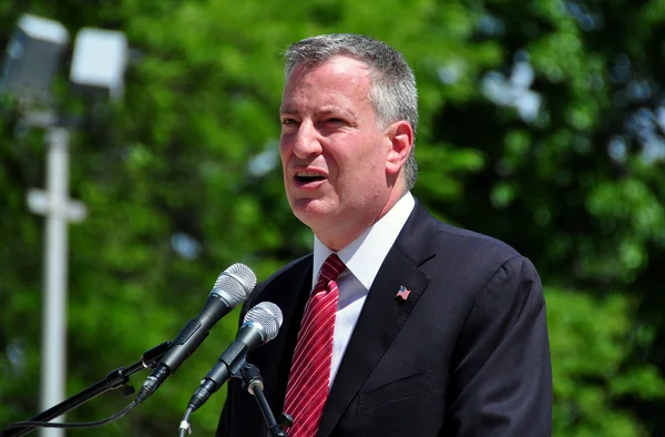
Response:
[[[284,199],[280,52],[358,32],[405,53],[419,82],[416,195],[443,220],[531,257],[546,286],[556,436],[665,434],[665,108],[658,0],[307,3],[116,0],[0,3],[0,43],[23,12],[119,29],[134,50],[120,104],[59,95],[73,138],[68,394],[172,338],[234,262],[259,280],[309,251]],[[64,73],[63,73],[64,75]],[[0,425],[38,413],[42,218],[40,132],[0,121]],[[288,293],[289,291],[285,291]],[[151,399],[94,436],[175,433],[236,317]],[[145,375],[132,379],[140,384]],[[193,416],[212,435],[223,403]],[[93,420],[106,394],[69,415]]]

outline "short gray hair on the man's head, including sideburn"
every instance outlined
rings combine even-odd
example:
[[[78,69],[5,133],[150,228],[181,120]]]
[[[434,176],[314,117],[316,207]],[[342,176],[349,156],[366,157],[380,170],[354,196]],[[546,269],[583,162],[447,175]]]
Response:
[[[418,126],[418,90],[411,68],[400,52],[381,41],[354,33],[311,37],[290,45],[285,52],[285,78],[299,67],[314,68],[334,57],[354,58],[366,63],[372,75],[369,101],[381,126],[406,120],[413,129],[413,148],[405,165],[406,190],[418,177],[415,142]]]

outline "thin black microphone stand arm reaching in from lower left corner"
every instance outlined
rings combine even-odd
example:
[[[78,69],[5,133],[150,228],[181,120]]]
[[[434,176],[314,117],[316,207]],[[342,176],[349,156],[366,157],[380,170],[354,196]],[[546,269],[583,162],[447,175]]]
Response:
[[[116,389],[116,388],[122,388],[123,397],[131,396],[134,393],[134,387],[127,386],[130,376],[132,376],[136,372],[142,370],[144,368],[154,368],[160,363],[160,359],[162,359],[164,354],[166,354],[166,352],[168,350],[170,347],[171,347],[171,341],[166,341],[166,342],[162,343],[161,345],[157,345],[157,346],[153,347],[152,349],[146,350],[143,354],[143,356],[141,357],[141,360],[132,364],[130,367],[116,368],[115,370],[108,374],[104,377],[104,379],[100,380],[96,384],[93,384],[92,386],[88,387],[83,392],[80,392],[76,395],[61,402],[60,404],[55,405],[54,407],[51,407],[51,408],[47,409],[45,411],[38,414],[30,420],[31,421],[50,421],[51,419],[53,419],[58,416],[62,416],[66,411],[70,411],[72,409],[76,408],[81,404],[84,404],[94,397],[96,397],[103,393],[106,393],[109,390]],[[37,427],[35,426],[27,426],[24,428],[11,429],[7,433],[0,433],[0,437],[23,436],[23,435],[30,433],[31,430],[33,430],[34,428],[37,428]]]

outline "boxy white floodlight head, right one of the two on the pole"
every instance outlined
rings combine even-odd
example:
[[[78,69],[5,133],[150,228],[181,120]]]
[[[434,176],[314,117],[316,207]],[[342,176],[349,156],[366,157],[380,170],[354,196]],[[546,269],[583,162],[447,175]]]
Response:
[[[119,31],[83,28],[76,34],[70,81],[84,91],[122,96],[127,40]]]

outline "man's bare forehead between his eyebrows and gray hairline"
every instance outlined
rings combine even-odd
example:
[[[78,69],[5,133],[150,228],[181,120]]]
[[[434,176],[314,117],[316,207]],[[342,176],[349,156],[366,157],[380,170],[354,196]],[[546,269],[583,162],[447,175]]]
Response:
[[[301,103],[369,102],[370,85],[369,67],[352,58],[335,57],[314,67],[300,65],[286,81],[282,109]]]

